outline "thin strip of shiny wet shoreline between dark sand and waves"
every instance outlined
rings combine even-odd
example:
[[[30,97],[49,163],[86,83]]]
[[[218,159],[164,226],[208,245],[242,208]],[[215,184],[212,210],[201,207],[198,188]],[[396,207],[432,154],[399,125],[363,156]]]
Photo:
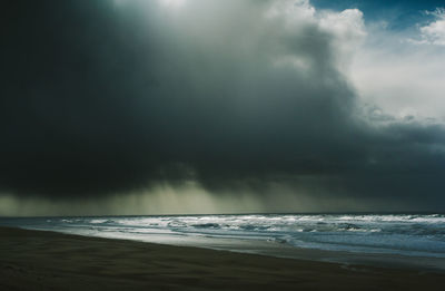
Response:
[[[1,226],[0,226],[1,227]],[[142,242],[160,245],[179,248],[198,248],[215,251],[227,251],[233,253],[257,254],[281,259],[306,260],[317,262],[339,263],[345,265],[367,265],[376,268],[412,269],[428,272],[444,272],[445,259],[422,255],[404,255],[397,253],[368,253],[354,251],[336,251],[313,248],[299,248],[265,240],[243,240],[234,237],[211,237],[211,236],[171,236],[170,234],[154,234],[149,239],[128,239],[127,235],[89,235],[82,233],[70,233],[53,230],[44,231],[68,235],[80,235],[83,237],[100,237],[106,240],[123,240],[129,242]]]

